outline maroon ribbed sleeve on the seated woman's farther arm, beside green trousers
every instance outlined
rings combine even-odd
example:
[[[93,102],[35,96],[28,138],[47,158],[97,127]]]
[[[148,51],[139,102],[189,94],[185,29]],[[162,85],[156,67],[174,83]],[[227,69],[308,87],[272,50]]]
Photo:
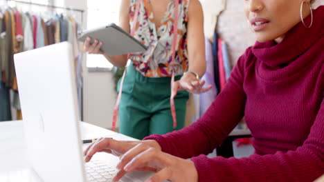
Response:
[[[156,140],[163,152],[183,159],[212,152],[243,117],[246,94],[242,85],[246,57],[244,54],[237,61],[228,83],[201,119],[182,130],[162,136],[154,134],[145,139]]]

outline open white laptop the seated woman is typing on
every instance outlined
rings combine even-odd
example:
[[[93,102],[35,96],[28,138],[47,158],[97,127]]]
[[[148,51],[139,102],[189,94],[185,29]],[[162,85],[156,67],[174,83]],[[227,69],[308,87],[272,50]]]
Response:
[[[15,54],[15,69],[28,157],[39,178],[45,182],[111,181],[116,156],[101,154],[96,161],[84,163],[70,43]],[[151,175],[132,172],[120,181],[145,181]]]

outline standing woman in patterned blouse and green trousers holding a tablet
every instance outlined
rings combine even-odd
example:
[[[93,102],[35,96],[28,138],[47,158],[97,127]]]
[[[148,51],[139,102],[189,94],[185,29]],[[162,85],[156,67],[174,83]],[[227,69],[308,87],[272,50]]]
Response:
[[[165,134],[183,128],[188,92],[199,94],[211,87],[202,88],[204,81],[199,81],[206,70],[204,18],[199,0],[179,1],[178,36],[173,61],[175,1],[139,1],[136,27],[133,27],[136,3],[137,0],[122,1],[120,27],[127,32],[134,29],[134,37],[148,49],[130,55],[132,63],[127,67],[119,107],[119,131],[143,139],[150,134]],[[111,57],[100,50],[100,40],[95,40],[93,44],[90,41],[88,37],[84,42],[87,52],[103,54],[115,66],[126,65],[127,54]],[[177,123],[172,123],[170,110],[172,70],[176,76],[172,91],[177,94],[174,98],[177,111],[174,121]]]

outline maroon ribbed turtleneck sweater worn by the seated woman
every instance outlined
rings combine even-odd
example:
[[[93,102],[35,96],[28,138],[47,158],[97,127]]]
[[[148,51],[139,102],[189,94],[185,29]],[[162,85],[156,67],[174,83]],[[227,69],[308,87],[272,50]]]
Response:
[[[309,25],[310,16],[305,19]],[[191,158],[200,182],[314,181],[324,173],[324,6],[312,28],[300,22],[285,39],[255,43],[196,123],[152,135],[164,152]],[[208,159],[245,117],[255,154]],[[199,155],[200,154],[200,155]]]

